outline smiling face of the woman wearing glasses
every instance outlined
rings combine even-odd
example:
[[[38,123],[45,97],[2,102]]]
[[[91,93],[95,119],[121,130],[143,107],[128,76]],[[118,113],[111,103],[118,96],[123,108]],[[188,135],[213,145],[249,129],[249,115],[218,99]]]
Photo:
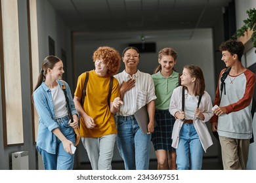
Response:
[[[129,49],[123,55],[125,67],[137,67],[139,63],[139,53],[134,49]]]

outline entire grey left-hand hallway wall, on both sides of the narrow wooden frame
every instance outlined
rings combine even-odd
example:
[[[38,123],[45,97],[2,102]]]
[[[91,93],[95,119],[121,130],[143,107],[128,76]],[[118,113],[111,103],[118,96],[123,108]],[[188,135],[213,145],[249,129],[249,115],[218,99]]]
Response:
[[[26,0],[18,1],[19,15],[19,33],[20,33],[20,69],[22,80],[22,109],[24,122],[24,145],[22,146],[3,146],[3,138],[0,138],[0,169],[12,169],[12,153],[28,151],[29,168],[37,169],[37,151],[33,143],[32,129],[32,103],[30,96],[30,63],[29,63],[29,40],[28,40],[28,14]],[[61,57],[61,49],[66,50],[68,71],[65,73],[68,82],[73,82],[72,73],[72,44],[70,29],[66,27],[62,19],[55,13],[54,9],[45,0],[37,1],[37,18],[38,18],[38,39],[39,39],[39,65],[43,59],[49,55],[48,36],[55,41],[55,55]],[[33,60],[38,62],[38,60]],[[70,70],[69,70],[70,69]],[[39,68],[38,68],[39,74]],[[35,75],[38,75],[35,73]],[[71,87],[73,85],[71,84]],[[73,88],[72,88],[73,90]],[[15,97],[15,96],[14,96]],[[0,98],[1,100],[1,98]],[[1,102],[1,101],[0,101]],[[0,105],[0,119],[3,119],[2,105]],[[3,137],[3,121],[0,120],[0,135]]]

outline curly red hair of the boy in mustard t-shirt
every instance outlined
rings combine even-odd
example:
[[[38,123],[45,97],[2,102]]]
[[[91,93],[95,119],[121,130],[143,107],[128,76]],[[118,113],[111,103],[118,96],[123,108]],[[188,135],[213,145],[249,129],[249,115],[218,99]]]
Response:
[[[96,59],[102,59],[108,66],[108,76],[116,75],[119,71],[121,57],[115,48],[109,46],[98,47],[93,53],[93,61],[96,61]]]

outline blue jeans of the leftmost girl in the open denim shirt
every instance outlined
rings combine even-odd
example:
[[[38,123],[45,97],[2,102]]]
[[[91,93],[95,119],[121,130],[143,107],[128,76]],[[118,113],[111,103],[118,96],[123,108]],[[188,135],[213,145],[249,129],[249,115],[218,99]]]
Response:
[[[68,125],[69,118],[64,117],[61,120],[56,120],[59,125],[59,129],[66,139],[75,143],[74,129]],[[56,154],[50,154],[49,152],[39,148],[37,151],[41,154],[43,159],[43,166],[45,170],[72,170],[74,167],[74,154],[71,155],[64,150],[63,144],[60,139],[57,138],[56,142]]]

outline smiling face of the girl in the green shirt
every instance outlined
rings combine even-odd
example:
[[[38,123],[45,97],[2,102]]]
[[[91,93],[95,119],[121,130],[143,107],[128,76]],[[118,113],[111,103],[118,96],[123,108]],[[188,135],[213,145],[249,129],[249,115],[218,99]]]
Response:
[[[161,65],[161,73],[172,73],[173,67],[176,63],[173,56],[161,56],[161,59],[158,59],[158,62]]]

